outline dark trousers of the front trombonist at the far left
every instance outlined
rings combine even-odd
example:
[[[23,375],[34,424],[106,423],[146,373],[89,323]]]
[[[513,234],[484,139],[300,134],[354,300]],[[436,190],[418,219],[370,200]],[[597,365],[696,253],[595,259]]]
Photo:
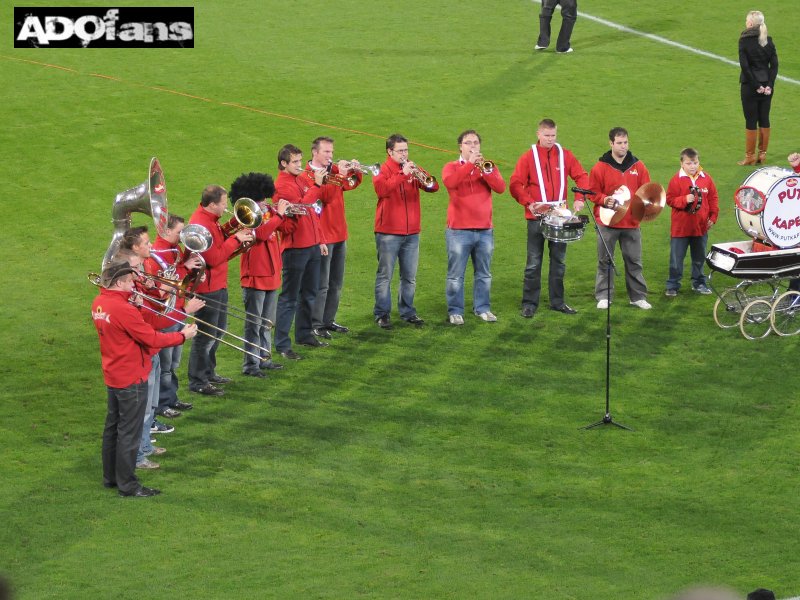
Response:
[[[103,429],[103,483],[116,483],[121,492],[139,488],[136,453],[142,437],[142,421],[147,404],[147,384],[126,388],[106,388],[108,412]]]

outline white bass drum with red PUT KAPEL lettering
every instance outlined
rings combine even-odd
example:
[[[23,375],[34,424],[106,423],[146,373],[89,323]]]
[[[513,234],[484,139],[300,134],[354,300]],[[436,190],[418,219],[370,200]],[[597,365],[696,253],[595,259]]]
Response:
[[[747,235],[778,248],[800,244],[800,176],[782,167],[753,171],[733,196]]]

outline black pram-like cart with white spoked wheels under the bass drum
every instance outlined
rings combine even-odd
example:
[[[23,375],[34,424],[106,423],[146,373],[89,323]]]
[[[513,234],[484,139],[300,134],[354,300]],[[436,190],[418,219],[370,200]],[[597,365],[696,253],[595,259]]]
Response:
[[[800,333],[800,293],[787,287],[789,280],[800,277],[800,248],[754,252],[753,243],[711,246],[706,263],[712,270],[709,287],[717,295],[714,321],[722,329],[738,326],[749,340],[764,338],[771,331],[796,335]],[[714,273],[740,281],[723,287],[713,279]]]

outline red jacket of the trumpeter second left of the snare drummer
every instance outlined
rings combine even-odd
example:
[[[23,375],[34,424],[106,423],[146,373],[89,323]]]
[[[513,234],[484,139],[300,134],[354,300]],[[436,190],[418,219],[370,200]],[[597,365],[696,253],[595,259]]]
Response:
[[[372,179],[378,195],[375,210],[375,233],[413,235],[420,232],[419,191],[439,191],[439,183],[428,189],[412,175],[403,175],[403,168],[387,158],[381,172]]]

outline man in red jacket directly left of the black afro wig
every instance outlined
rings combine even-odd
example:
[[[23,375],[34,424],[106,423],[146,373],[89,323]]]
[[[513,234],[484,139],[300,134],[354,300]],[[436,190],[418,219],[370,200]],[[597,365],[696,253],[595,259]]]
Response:
[[[200,206],[194,211],[189,223],[202,225],[211,233],[212,243],[201,253],[206,262],[206,278],[198,284],[196,291],[210,300],[197,312],[197,317],[221,330],[228,326],[228,260],[243,242],[251,242],[250,230],[240,229],[227,239],[219,224],[220,217],[228,208],[228,192],[219,185],[209,185],[203,190]],[[209,335],[200,335],[192,342],[189,352],[189,389],[207,396],[222,396],[225,391],[214,384],[229,383],[230,379],[218,375],[217,348],[219,331],[200,325]]]

